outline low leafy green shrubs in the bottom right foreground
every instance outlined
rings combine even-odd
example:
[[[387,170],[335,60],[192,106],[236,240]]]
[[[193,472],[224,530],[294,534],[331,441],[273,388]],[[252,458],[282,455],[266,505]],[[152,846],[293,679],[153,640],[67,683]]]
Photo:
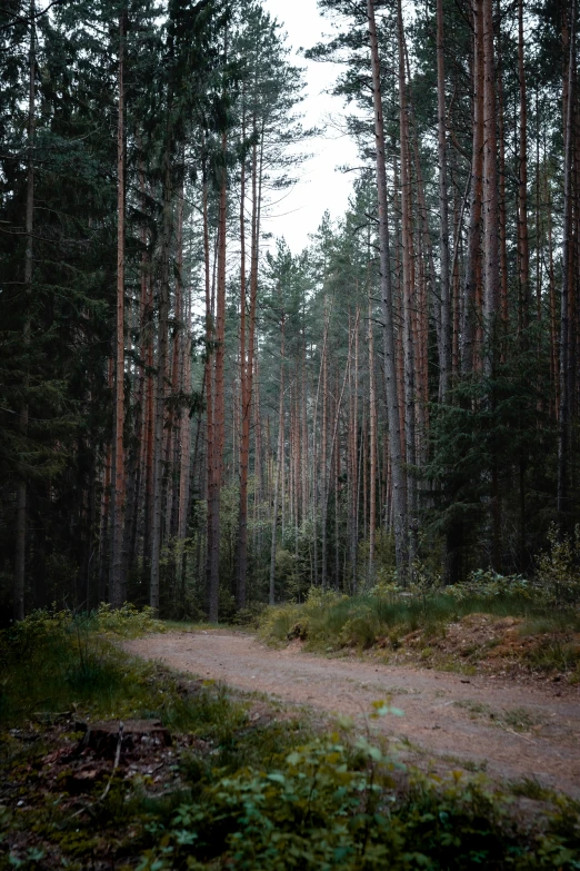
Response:
[[[577,808],[562,802],[548,830],[518,831],[483,780],[459,772],[416,778],[403,793],[397,766],[367,738],[338,735],[298,748],[273,770],[248,769],[178,808],[138,871],[392,871],[579,867]]]

